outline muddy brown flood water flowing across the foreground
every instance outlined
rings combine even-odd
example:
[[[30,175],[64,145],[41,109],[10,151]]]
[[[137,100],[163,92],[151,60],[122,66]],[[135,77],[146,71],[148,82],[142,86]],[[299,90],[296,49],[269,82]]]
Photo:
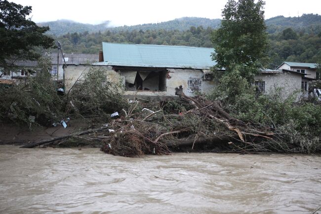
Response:
[[[124,158],[0,145],[0,214],[310,214],[320,206],[320,156]]]

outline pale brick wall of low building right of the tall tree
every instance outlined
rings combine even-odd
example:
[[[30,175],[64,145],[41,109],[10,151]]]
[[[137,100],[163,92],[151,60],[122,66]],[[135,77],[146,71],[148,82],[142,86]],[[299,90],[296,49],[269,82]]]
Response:
[[[280,74],[261,74],[254,77],[256,81],[265,82],[265,93],[270,93],[274,89],[281,87],[281,95],[283,98],[288,97],[295,91],[301,90],[302,77],[291,72],[283,72]]]

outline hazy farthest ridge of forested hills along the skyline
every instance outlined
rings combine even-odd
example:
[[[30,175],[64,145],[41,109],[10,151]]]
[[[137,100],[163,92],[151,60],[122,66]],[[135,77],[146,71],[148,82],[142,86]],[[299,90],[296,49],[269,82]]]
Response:
[[[284,17],[276,16],[270,19],[267,19],[266,25],[268,26],[269,33],[281,32],[287,27],[291,27],[294,30],[312,30],[316,31],[316,27],[321,25],[321,15],[318,14],[303,14],[300,17]],[[179,30],[186,31],[189,30],[191,26],[198,27],[202,26],[203,28],[210,27],[216,29],[221,23],[220,19],[208,19],[208,18],[199,18],[199,17],[183,17],[174,19],[167,22],[160,23],[150,23],[142,25],[133,25],[133,26],[122,26],[122,27],[112,27],[110,21],[105,21],[99,25],[91,24],[82,24],[74,22],[71,20],[57,20],[52,22],[42,22],[38,23],[40,26],[49,26],[49,34],[55,36],[61,36],[67,33],[94,33],[94,32],[105,32],[109,30],[111,32],[121,32],[121,31],[147,31],[147,30]],[[318,29],[317,29],[318,31]]]

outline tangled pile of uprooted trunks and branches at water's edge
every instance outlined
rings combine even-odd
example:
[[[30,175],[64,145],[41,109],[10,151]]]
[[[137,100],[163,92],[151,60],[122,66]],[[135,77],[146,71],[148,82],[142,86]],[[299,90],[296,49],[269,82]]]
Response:
[[[68,138],[99,142],[101,150],[126,157],[170,154],[171,151],[278,151],[271,143],[271,127],[244,123],[224,111],[219,102],[202,96],[188,97],[182,86],[175,88],[180,100],[156,103],[129,102],[128,109],[111,115],[101,128],[33,142],[23,146],[58,143]],[[175,105],[173,105],[175,102]]]

